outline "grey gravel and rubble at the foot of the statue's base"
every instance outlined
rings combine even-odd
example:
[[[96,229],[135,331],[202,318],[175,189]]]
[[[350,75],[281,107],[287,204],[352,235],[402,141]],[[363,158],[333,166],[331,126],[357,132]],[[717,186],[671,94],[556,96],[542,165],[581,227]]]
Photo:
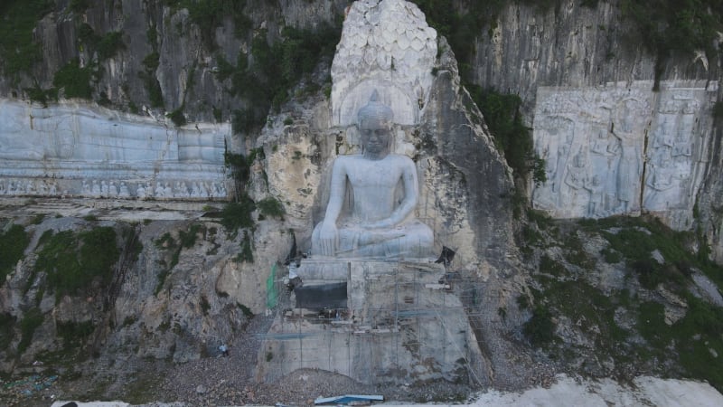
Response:
[[[399,402],[460,402],[469,386],[446,382],[423,386],[374,386],[355,382],[343,374],[300,369],[277,383],[255,383],[259,334],[266,334],[273,317],[255,317],[246,332],[229,345],[229,355],[174,365],[159,385],[156,399],[187,405],[243,405],[277,403],[313,405],[317,397],[349,393],[382,394]],[[152,404],[149,404],[151,406]]]

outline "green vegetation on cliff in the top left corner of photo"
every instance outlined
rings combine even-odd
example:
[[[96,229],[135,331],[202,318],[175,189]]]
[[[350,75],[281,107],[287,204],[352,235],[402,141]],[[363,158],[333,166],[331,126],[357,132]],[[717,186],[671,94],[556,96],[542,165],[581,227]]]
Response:
[[[0,2],[0,67],[15,81],[42,58],[40,46],[33,42],[33,30],[52,7],[50,0]]]

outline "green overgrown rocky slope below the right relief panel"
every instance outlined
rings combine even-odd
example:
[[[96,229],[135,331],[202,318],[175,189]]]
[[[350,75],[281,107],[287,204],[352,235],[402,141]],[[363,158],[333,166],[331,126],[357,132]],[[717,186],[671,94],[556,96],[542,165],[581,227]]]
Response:
[[[695,233],[671,231],[645,216],[557,223],[567,229],[559,237],[549,233],[555,228],[540,227],[548,243],[538,250],[540,272],[531,274],[535,306],[522,327],[523,336],[550,358],[579,365],[588,374],[634,368],[683,374],[723,389],[723,362],[713,357],[723,353],[723,308],[690,292],[692,270],[703,270],[719,285],[723,268],[689,250],[697,246]],[[589,238],[606,240],[608,246],[599,256],[624,264],[619,278],[625,289],[615,288],[620,282],[596,287],[599,276],[591,270],[598,253],[582,245]],[[566,261],[556,260],[552,252],[561,252]],[[661,287],[687,307],[664,299]],[[518,305],[530,308],[525,297],[518,298]],[[564,337],[555,336],[555,323],[567,327],[559,331]]]

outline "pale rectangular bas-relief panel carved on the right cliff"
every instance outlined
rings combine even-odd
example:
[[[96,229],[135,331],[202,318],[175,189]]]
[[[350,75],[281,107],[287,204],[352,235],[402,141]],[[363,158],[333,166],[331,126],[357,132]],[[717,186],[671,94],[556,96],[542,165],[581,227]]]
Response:
[[[700,136],[709,96],[704,88],[668,87],[657,108],[652,100],[647,82],[540,88],[533,137],[548,181],[533,186],[533,205],[559,218],[690,211],[701,138],[693,135]]]

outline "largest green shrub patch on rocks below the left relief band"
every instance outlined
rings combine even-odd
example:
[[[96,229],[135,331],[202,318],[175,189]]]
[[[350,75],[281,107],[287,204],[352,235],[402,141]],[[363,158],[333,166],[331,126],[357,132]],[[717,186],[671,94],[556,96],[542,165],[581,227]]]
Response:
[[[112,228],[99,227],[78,233],[49,230],[42,234],[39,244],[42,247],[35,270],[46,273],[46,284],[54,289],[57,299],[89,289],[96,279],[102,285],[108,284],[113,277],[119,251],[116,231]]]

